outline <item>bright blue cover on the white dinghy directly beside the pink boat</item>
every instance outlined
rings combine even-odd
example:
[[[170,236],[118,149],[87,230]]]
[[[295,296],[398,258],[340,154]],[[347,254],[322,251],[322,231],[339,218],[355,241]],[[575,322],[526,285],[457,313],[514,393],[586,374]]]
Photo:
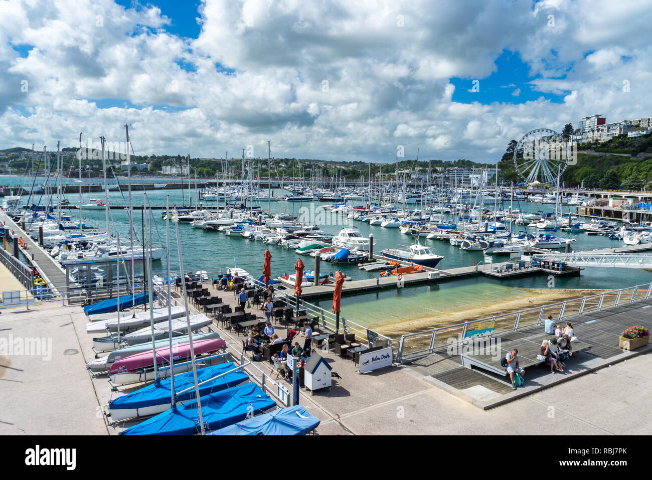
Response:
[[[231,368],[235,368],[235,365],[231,362],[214,365],[213,367],[200,368],[197,370],[197,382],[205,382],[214,376],[231,370]],[[174,390],[176,392],[185,390],[194,383],[192,371],[175,375],[174,378]],[[231,372],[220,378],[216,378],[212,382],[200,385],[200,397],[235,387],[235,385],[238,385],[239,383],[246,382],[248,378],[247,374],[244,374],[243,372]],[[147,387],[143,387],[132,393],[118,397],[115,400],[111,400],[109,405],[111,408],[126,410],[130,408],[143,408],[166,403],[170,404],[170,388],[171,380],[170,378],[165,378],[164,380],[160,380],[158,385],[152,383],[151,385],[147,385]],[[178,395],[177,401],[191,400],[193,398],[197,398],[195,389],[188,390],[185,393]]]

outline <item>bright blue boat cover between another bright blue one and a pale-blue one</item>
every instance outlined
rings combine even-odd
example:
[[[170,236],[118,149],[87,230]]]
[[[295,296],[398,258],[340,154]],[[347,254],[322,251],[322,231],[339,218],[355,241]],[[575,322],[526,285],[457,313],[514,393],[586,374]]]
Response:
[[[276,406],[256,383],[232,387],[200,397],[204,428],[219,430],[257,415]],[[193,435],[201,432],[197,400],[190,400],[177,408],[159,413],[138,425],[129,427],[121,435]]]

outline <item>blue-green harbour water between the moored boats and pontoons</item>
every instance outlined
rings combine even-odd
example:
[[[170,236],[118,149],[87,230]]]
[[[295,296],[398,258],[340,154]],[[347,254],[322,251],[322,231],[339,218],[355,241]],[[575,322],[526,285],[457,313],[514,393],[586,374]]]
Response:
[[[0,181],[2,179],[0,178]],[[276,189],[274,195],[281,196],[287,192]],[[103,198],[103,193],[93,193],[93,198]],[[188,203],[188,190],[183,192]],[[193,198],[196,198],[192,190]],[[147,192],[147,198],[151,205],[165,205],[169,200],[170,205],[182,203],[181,190],[153,190]],[[68,194],[71,203],[77,203],[79,196]],[[82,203],[88,203],[91,196],[83,194]],[[143,204],[143,192],[133,192],[132,202],[134,205]],[[110,202],[113,205],[126,203],[126,192],[123,196],[119,192],[110,193]],[[193,204],[195,200],[193,200]],[[360,202],[361,203],[361,202]],[[204,205],[215,205],[215,202],[203,202]],[[331,214],[319,209],[320,205],[328,205],[329,202],[271,202],[271,211],[274,213],[287,212],[299,215],[307,209],[312,209],[313,215],[317,218],[322,230],[329,233],[337,233],[344,226],[357,226],[364,236],[374,234],[376,252],[383,248],[395,247],[398,244],[408,245],[411,237],[400,233],[398,228],[382,228],[380,226],[369,226],[357,220],[348,220],[340,214]],[[353,202],[357,204],[357,202]],[[506,203],[505,207],[508,207]],[[263,202],[263,209],[267,209],[267,202]],[[300,210],[303,208],[304,210]],[[554,211],[554,205],[534,205],[527,202],[514,202],[514,208],[522,211]],[[569,207],[563,207],[567,212]],[[83,210],[82,215],[87,223],[99,224],[104,228],[104,211]],[[68,211],[73,218],[79,215],[77,209]],[[153,225],[153,244],[155,247],[165,245],[166,222],[161,218],[162,211],[153,211],[155,224]],[[128,238],[128,215],[125,210],[111,210],[111,217],[115,222],[115,228],[121,238]],[[140,235],[141,211],[134,212],[136,231]],[[227,237],[221,232],[206,232],[200,228],[193,228],[189,224],[170,224],[170,267],[172,271],[178,271],[179,261],[177,256],[177,243],[175,229],[179,229],[181,239],[181,251],[186,271],[205,270],[209,274],[217,273],[221,267],[237,266],[245,269],[250,274],[258,277],[262,275],[263,253],[269,248],[272,254],[272,275],[278,277],[293,272],[294,263],[301,258],[306,269],[314,268],[314,259],[310,256],[300,256],[292,249],[285,249],[277,245],[266,245],[265,243],[244,239],[239,235]],[[525,226],[517,230],[527,230],[535,233],[535,229]],[[617,247],[623,243],[607,239],[600,235],[589,236],[585,233],[557,233],[562,237],[576,238],[572,244],[574,250],[592,250],[595,248]],[[444,259],[439,263],[442,269],[463,267],[473,265],[474,262],[482,262],[482,252],[468,252],[459,247],[452,247],[449,243],[438,240],[421,239],[430,248],[436,250],[437,254],[443,255]],[[495,257],[496,261],[503,261],[506,257]],[[508,257],[509,258],[509,257]],[[155,273],[166,271],[165,256],[161,261],[154,262]],[[366,273],[357,268],[356,265],[334,265],[333,263],[321,262],[321,272],[335,271],[341,269],[346,275],[354,280],[361,278],[376,278],[379,273]],[[554,288],[599,288],[617,289],[636,284],[643,284],[652,281],[652,274],[639,269],[617,269],[617,268],[587,268],[582,271],[580,277],[559,277],[554,280]],[[429,286],[413,286],[402,289],[387,289],[379,292],[364,293],[360,295],[347,295],[342,298],[342,315],[351,320],[362,322],[365,325],[373,325],[381,319],[383,323],[390,319],[401,320],[406,318],[419,318],[441,311],[454,311],[469,308],[469,305],[482,306],[490,305],[501,299],[511,299],[523,296],[523,288],[548,288],[548,278],[544,275],[532,277],[513,278],[511,280],[497,280],[484,276],[471,278],[460,278],[449,280]],[[331,309],[332,300],[323,299],[315,302],[321,307]],[[391,320],[390,320],[391,321]]]

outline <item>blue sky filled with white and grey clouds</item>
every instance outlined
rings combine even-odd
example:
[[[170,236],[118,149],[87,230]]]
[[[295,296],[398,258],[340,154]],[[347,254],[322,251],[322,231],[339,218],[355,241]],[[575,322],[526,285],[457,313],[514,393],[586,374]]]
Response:
[[[69,1],[0,15],[0,147],[126,122],[143,154],[494,163],[535,128],[652,115],[649,0]]]

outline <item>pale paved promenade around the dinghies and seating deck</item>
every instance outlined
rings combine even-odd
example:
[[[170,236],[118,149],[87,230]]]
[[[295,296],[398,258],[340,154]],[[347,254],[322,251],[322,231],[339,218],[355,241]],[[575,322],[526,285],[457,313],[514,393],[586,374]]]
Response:
[[[61,303],[3,310],[0,337],[51,338],[52,348],[0,355],[0,434],[117,434],[128,426],[108,427],[100,413],[116,393],[106,377],[91,379],[85,369],[93,357],[85,323],[82,308]],[[234,345],[243,338],[222,333]],[[409,367],[359,375],[352,361],[332,352],[325,358],[342,378],[333,379],[331,392],[301,393],[301,403],[321,419],[321,435],[647,434],[651,426],[640,416],[652,397],[649,353],[488,411],[417,378]]]

